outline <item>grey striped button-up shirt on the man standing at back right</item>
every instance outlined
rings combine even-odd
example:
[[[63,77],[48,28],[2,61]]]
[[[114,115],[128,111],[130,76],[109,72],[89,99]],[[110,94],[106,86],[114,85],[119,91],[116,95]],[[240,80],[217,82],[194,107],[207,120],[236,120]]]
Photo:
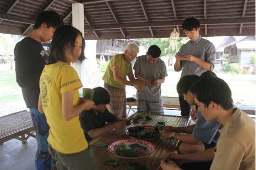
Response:
[[[186,44],[181,46],[178,53],[181,56],[193,55],[205,62],[208,62],[210,63],[210,70],[214,70],[214,64],[216,59],[215,46],[210,41],[203,39],[202,36],[196,39],[194,41],[194,44],[193,41],[189,40]],[[193,61],[180,60],[180,64],[181,69],[183,68],[181,72],[181,77],[185,75],[201,76],[203,72],[207,71],[206,69],[200,67],[197,63]],[[175,71],[180,70],[175,69]]]

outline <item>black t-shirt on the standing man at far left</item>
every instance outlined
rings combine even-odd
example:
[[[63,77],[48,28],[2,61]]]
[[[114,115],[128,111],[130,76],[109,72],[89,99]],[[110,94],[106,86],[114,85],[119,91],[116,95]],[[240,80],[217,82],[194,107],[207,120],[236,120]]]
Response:
[[[41,43],[26,37],[14,48],[16,81],[22,87],[23,98],[28,108],[38,108],[39,79],[48,61]]]

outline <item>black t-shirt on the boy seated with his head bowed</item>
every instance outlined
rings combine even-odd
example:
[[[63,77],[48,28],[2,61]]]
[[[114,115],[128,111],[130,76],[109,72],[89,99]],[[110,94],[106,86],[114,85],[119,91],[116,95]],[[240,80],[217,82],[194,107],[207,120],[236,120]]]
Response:
[[[82,113],[79,115],[79,120],[84,136],[86,136],[86,140],[89,142],[93,139],[88,135],[87,132],[92,129],[103,128],[105,127],[106,122],[113,122],[115,118],[116,116],[110,113],[108,109],[105,109],[103,113],[98,112],[98,115],[93,112],[93,109],[89,111],[82,111]]]

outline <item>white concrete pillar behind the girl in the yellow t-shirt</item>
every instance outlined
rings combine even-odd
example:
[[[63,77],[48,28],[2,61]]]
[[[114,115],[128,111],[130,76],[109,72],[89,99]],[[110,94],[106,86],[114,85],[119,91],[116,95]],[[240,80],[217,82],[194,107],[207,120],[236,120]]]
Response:
[[[72,4],[72,25],[81,31],[82,36],[84,36],[84,14],[83,14],[83,4],[73,3]],[[86,75],[85,75],[85,66],[84,61],[82,63],[76,62],[74,63],[74,68],[83,84],[86,84]],[[85,87],[83,87],[85,88]],[[79,93],[82,94],[82,88],[79,89]]]

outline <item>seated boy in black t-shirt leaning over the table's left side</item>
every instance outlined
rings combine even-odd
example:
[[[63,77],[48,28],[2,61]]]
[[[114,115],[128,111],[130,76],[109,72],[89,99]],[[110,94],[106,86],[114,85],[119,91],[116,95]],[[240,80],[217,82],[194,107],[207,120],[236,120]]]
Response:
[[[110,103],[110,94],[103,87],[94,88],[93,102],[95,105],[92,109],[84,110],[79,115],[81,127],[88,142],[114,128],[123,129],[126,126],[127,119],[119,118],[106,109],[106,105]],[[114,124],[105,126],[106,122],[114,122]]]

